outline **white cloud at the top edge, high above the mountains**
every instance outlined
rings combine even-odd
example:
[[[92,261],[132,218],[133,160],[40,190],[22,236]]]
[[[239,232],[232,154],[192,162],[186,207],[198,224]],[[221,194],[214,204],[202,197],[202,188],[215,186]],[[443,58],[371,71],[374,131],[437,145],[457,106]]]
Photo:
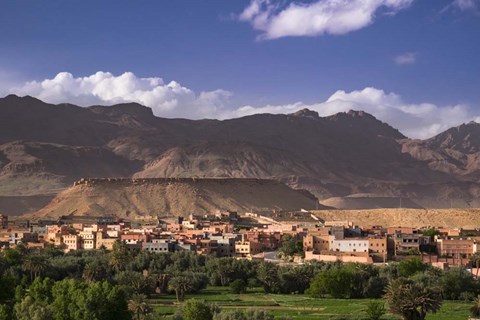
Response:
[[[413,0],[316,0],[311,3],[252,0],[240,14],[263,32],[260,39],[286,36],[320,36],[346,34],[373,23],[376,14],[385,10],[395,14]]]

